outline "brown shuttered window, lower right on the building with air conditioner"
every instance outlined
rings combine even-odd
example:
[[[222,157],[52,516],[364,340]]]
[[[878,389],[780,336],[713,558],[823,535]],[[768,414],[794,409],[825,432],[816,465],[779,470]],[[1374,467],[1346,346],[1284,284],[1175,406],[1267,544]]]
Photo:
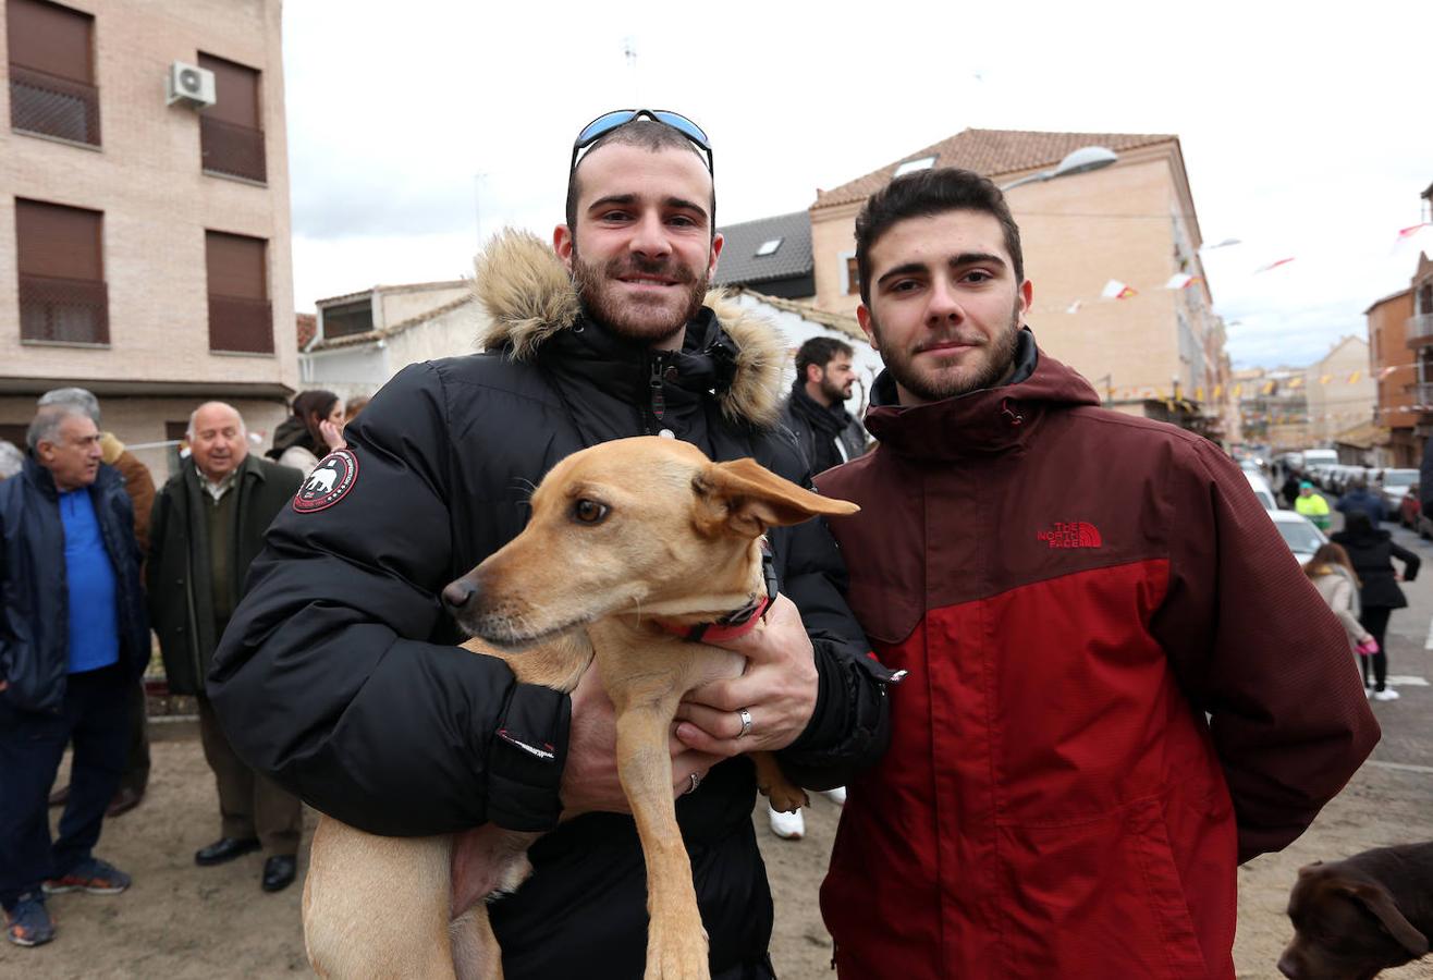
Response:
[[[209,350],[274,352],[274,312],[268,301],[268,242],[262,238],[203,234],[209,275]]]

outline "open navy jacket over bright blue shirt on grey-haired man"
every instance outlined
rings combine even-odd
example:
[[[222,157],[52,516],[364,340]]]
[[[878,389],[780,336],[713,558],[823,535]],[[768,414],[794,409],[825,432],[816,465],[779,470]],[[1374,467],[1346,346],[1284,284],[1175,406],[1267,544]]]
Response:
[[[119,470],[100,464],[89,489],[115,567],[119,662],[139,679],[149,662],[149,619],[139,583],[135,509]],[[50,471],[27,456],[0,481],[0,698],[21,711],[56,712],[69,672],[69,587],[64,523]]]

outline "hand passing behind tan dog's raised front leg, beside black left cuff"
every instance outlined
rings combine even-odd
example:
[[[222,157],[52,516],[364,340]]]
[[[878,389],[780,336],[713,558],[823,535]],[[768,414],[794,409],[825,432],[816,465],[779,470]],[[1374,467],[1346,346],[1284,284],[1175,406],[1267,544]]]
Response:
[[[668,736],[672,754],[672,794],[681,795],[722,761],[689,749],[675,735]],[[562,818],[590,811],[632,812],[618,778],[616,711],[602,686],[596,663],[582,675],[572,692],[572,725],[567,731],[567,764],[562,769]]]

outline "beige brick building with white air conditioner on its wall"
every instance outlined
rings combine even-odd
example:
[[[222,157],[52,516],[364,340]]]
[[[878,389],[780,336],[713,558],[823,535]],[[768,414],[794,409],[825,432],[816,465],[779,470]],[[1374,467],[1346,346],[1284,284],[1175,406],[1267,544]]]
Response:
[[[62,385],[129,444],[206,398],[272,430],[298,384],[281,0],[0,0],[0,437]]]

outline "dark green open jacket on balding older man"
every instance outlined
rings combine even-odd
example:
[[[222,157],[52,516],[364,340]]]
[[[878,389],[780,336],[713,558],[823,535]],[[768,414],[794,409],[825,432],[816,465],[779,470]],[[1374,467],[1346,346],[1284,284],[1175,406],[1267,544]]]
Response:
[[[252,453],[239,464],[229,493],[234,527],[229,534],[229,583],[236,607],[244,576],[264,549],[264,532],[274,514],[288,507],[304,474]],[[193,458],[179,466],[155,499],[149,523],[149,562],[145,585],[149,615],[159,635],[171,693],[203,692],[203,679],[219,645],[215,635],[214,586],[209,572],[209,534],[203,507],[212,507],[201,486]],[[198,532],[198,533],[196,533]]]

